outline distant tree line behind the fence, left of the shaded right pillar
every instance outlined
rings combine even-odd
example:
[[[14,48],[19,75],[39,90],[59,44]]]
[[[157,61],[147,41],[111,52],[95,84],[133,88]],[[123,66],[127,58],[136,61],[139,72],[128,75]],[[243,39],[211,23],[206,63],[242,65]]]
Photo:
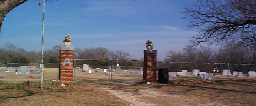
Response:
[[[44,63],[59,62],[59,47],[60,45],[55,45],[52,49],[44,51]],[[3,48],[0,48],[0,63],[39,63],[41,61],[40,55],[41,52],[26,51],[14,46],[13,44],[6,44]],[[124,50],[111,51],[105,47],[74,49],[74,58],[80,59],[111,59],[114,61],[123,61],[129,60],[129,56],[130,54]],[[100,62],[93,62],[93,64],[104,65]],[[129,64],[131,65],[131,63],[124,62],[123,65]]]

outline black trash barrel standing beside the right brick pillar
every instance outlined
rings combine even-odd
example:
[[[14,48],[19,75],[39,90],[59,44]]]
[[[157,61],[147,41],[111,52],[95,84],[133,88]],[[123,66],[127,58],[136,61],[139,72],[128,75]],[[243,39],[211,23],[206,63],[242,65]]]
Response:
[[[159,69],[158,70],[158,82],[162,84],[167,84],[169,82],[168,69]]]

